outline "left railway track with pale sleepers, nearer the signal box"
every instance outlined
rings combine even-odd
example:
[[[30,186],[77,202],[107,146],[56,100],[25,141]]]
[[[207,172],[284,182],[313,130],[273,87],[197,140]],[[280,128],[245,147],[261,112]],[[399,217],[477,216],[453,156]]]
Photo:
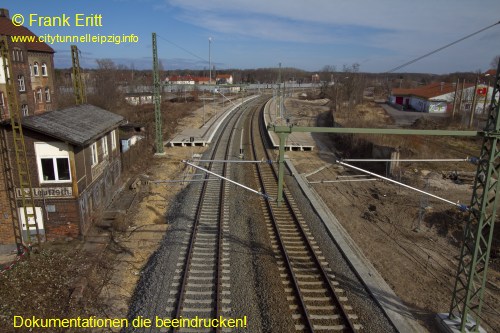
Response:
[[[242,108],[249,108],[249,102]],[[223,125],[210,160],[229,159],[235,126],[244,110],[233,112]],[[229,130],[230,129],[230,130]],[[227,176],[230,164],[212,163],[208,170]],[[185,256],[177,262],[176,275],[170,288],[167,313],[172,318],[227,317],[231,312],[228,192],[229,183],[206,174],[200,190],[191,230],[188,232]],[[179,332],[221,332],[219,328],[179,328]]]

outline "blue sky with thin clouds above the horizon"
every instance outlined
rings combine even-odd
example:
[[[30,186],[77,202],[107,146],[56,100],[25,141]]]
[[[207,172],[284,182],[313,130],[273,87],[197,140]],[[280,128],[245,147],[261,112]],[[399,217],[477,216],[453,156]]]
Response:
[[[104,58],[152,68],[155,32],[166,70],[204,69],[210,60],[221,70],[358,63],[363,72],[386,72],[500,21],[499,0],[4,0],[0,7],[11,18],[21,14],[39,36],[137,36],[136,43],[75,43],[84,68]],[[77,14],[100,15],[89,19],[99,26],[76,26]],[[70,26],[47,26],[52,19],[42,16],[66,17]],[[56,68],[71,66],[71,44],[51,45]],[[486,71],[498,54],[500,24],[398,72]]]

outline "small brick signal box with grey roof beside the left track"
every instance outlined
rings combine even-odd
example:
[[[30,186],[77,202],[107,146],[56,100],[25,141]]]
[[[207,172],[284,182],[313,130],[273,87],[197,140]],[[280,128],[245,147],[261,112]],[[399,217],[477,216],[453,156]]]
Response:
[[[96,215],[111,201],[121,173],[118,126],[122,123],[123,117],[92,105],[23,118],[37,222],[47,240],[86,235]],[[12,147],[10,124],[3,124],[2,130]],[[9,152],[17,182],[13,149]],[[14,193],[20,198],[17,186]],[[8,213],[7,207],[0,209]],[[0,221],[0,243],[14,242],[12,222],[10,228],[8,222]]]

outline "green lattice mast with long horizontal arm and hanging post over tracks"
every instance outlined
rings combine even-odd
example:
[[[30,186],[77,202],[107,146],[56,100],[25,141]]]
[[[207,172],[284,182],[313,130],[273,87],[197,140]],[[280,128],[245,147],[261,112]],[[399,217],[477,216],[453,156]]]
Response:
[[[476,333],[480,327],[481,311],[486,291],[488,264],[490,260],[493,231],[497,218],[500,197],[500,61],[494,81],[493,94],[488,110],[488,118],[483,131],[444,131],[374,129],[343,127],[300,127],[268,125],[280,139],[278,160],[278,197],[283,202],[283,175],[285,140],[293,132],[310,133],[358,133],[393,135],[436,135],[436,136],[476,136],[483,138],[481,154],[476,160],[477,171],[473,185],[471,204],[463,209],[468,211],[464,229],[460,259],[449,313],[438,314],[440,323],[447,331]],[[339,162],[340,163],[340,162]],[[463,205],[461,205],[463,206]]]

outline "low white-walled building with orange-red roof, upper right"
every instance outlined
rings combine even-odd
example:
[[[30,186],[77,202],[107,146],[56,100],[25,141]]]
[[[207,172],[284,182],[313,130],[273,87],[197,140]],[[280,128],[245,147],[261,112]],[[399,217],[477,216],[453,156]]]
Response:
[[[474,84],[467,83],[463,91],[459,91],[464,110],[470,110],[474,96]],[[461,86],[460,86],[461,88]],[[479,85],[477,89],[475,113],[483,112],[486,99],[487,105],[493,94],[493,88]],[[403,110],[413,110],[427,113],[445,113],[455,99],[456,84],[437,82],[414,89],[392,89],[389,103]]]

